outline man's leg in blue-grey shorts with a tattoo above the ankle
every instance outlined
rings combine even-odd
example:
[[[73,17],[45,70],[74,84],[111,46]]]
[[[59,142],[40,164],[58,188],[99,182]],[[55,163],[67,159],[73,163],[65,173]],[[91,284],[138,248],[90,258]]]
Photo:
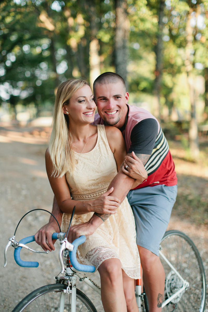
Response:
[[[176,195],[177,186],[157,185],[130,191],[127,196],[136,222],[137,245],[150,312],[160,312],[162,309],[165,273],[158,249]]]

